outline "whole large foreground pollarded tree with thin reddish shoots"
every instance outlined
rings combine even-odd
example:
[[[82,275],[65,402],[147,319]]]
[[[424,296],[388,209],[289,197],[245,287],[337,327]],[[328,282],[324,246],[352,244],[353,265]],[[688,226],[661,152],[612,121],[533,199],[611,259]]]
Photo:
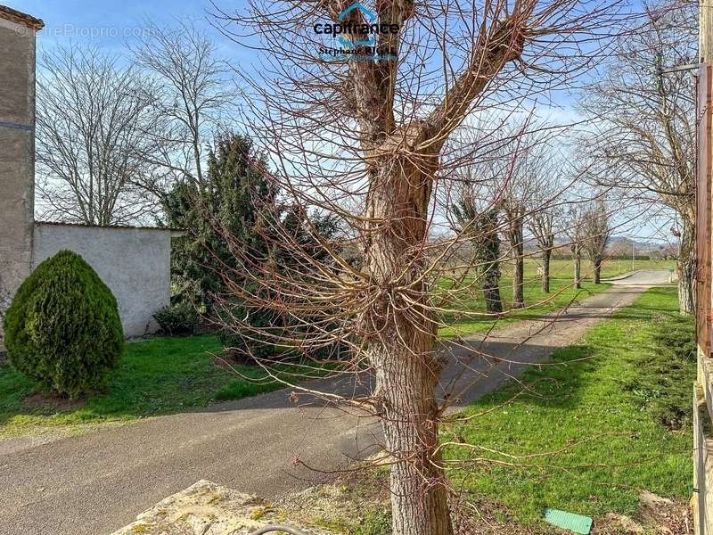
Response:
[[[434,191],[467,160],[447,141],[468,128],[472,111],[514,108],[524,94],[587,68],[581,50],[568,57],[561,46],[595,35],[610,7],[393,1],[371,10],[340,0],[252,0],[245,12],[222,14],[223,28],[234,22],[234,39],[261,53],[259,72],[242,72],[242,119],[259,132],[273,179],[300,205],[339,217],[349,236],[334,243],[313,230],[328,259],[316,260],[273,221],[266,239],[279,235],[303,269],[234,247],[249,280],[230,284],[226,269],[232,297],[285,319],[276,333],[241,317],[229,323],[252,328],[256,339],[292,341],[306,356],[340,341],[352,370],[374,374],[374,391],[359,399],[322,396],[381,419],[395,535],[453,533],[438,423],[455,398],[437,393],[448,363],[437,334],[460,291],[443,277],[467,277],[472,268],[454,270],[448,260],[472,236],[430,239],[442,208]],[[345,245],[360,251],[357,262],[340,252]]]

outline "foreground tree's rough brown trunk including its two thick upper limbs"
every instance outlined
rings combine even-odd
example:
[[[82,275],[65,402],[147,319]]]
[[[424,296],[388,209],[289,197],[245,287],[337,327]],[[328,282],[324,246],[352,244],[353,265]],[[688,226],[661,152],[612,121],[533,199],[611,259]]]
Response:
[[[381,13],[384,21],[403,23],[413,14],[413,3],[389,6]],[[354,10],[351,16],[360,15]],[[350,65],[369,176],[365,268],[378,293],[360,319],[376,370],[385,446],[394,459],[390,491],[397,535],[453,533],[438,449],[435,391],[442,365],[434,350],[436,322],[426,306],[428,288],[422,277],[430,194],[447,136],[505,62],[520,56],[524,37],[519,24],[525,20],[498,22],[488,37],[481,36],[448,98],[427,119],[401,128],[395,127],[390,89],[394,62]],[[397,37],[387,37],[383,45],[396,49]]]

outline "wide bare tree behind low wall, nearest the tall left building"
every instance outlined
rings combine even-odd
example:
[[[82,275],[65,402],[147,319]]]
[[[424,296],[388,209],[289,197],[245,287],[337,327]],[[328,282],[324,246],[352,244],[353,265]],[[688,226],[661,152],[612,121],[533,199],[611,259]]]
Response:
[[[137,188],[148,102],[143,80],[96,48],[58,48],[39,60],[40,217],[87,225],[133,223],[152,212]]]

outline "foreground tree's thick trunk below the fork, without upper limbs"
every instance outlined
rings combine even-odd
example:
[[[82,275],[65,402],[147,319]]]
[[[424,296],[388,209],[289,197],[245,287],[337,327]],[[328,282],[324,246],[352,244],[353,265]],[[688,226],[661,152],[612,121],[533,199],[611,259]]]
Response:
[[[371,305],[360,319],[376,374],[385,447],[393,458],[394,535],[452,535],[446,476],[438,453],[436,322],[422,280],[427,213],[438,157],[414,158],[422,140],[389,147],[370,169],[365,268]],[[434,147],[435,150],[435,147]],[[386,151],[381,152],[383,154]]]

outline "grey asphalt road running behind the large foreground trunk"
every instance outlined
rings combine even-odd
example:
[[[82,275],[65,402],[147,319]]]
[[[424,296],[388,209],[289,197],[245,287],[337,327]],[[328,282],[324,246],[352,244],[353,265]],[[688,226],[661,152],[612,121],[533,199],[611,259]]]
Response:
[[[668,283],[668,272],[639,272],[626,281],[559,314],[498,329],[487,341],[472,337],[452,346],[443,384],[459,392],[454,405],[576,342],[645,285]],[[105,535],[199,479],[279,498],[325,477],[305,465],[334,470],[370,452],[378,436],[372,421],[317,403],[295,407],[288,395],[277,391],[46,443],[0,440],[0,533]]]

